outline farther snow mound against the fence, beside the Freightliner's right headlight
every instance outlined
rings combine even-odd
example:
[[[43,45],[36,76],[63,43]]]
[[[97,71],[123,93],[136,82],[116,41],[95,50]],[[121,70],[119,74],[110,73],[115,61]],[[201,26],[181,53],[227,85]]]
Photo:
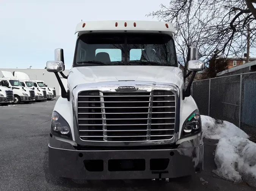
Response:
[[[249,136],[233,123],[227,121],[215,120],[209,116],[202,116],[202,131],[205,139],[221,139],[231,137],[243,137],[248,139]]]

